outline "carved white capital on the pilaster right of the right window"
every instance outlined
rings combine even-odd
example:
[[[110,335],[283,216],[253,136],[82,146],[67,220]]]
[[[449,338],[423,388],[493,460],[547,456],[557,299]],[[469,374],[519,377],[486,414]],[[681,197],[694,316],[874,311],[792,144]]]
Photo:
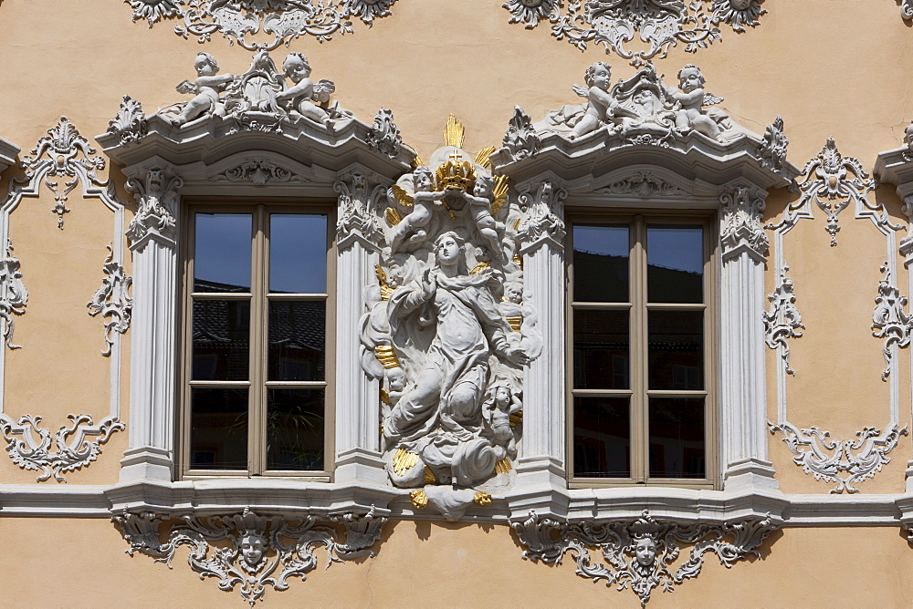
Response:
[[[761,225],[766,207],[763,191],[747,186],[733,186],[719,196],[722,210],[719,222],[719,244],[723,263],[748,253],[758,262],[766,260],[767,234]]]

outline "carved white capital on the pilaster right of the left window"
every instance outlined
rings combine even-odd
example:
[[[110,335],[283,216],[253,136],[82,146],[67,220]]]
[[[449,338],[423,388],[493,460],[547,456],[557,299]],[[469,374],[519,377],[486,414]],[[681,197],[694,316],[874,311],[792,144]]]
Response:
[[[383,233],[374,210],[384,200],[385,188],[378,177],[371,172],[348,171],[336,179],[333,190],[340,196],[336,222],[340,250],[355,241],[370,249],[379,249],[377,243],[383,239]]]

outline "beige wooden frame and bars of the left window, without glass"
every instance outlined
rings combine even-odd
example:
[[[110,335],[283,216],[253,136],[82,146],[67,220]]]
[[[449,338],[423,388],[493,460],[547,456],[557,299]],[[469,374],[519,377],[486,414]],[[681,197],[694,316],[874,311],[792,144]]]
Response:
[[[195,214],[197,213],[250,213],[251,235],[251,287],[249,293],[194,293]],[[327,280],[323,294],[269,294],[268,252],[269,215],[273,213],[320,214],[327,218]],[[179,480],[206,480],[212,478],[306,478],[312,481],[332,481],[335,439],[335,336],[336,336],[336,205],[335,201],[283,201],[283,200],[211,200],[184,201],[183,238],[181,240],[181,315],[179,357],[179,407],[178,441],[175,451]],[[250,337],[249,369],[247,381],[194,381],[193,368],[193,319],[194,300],[249,300]],[[323,381],[268,381],[268,303],[270,300],[321,300],[326,303]],[[247,387],[247,470],[192,470],[191,462],[191,388],[192,387]],[[255,391],[254,387],[259,387]],[[267,469],[267,391],[269,387],[314,387],[324,390],[323,469],[322,470],[268,470]]]

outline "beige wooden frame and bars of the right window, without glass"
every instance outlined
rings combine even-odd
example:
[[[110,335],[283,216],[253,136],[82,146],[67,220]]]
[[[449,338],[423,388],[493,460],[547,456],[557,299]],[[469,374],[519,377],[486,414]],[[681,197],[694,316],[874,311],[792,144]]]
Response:
[[[566,283],[565,290],[565,335],[567,346],[565,357],[565,378],[567,405],[566,463],[568,467],[568,486],[571,489],[605,488],[605,487],[677,487],[683,489],[719,489],[719,432],[718,408],[719,394],[717,383],[717,356],[719,346],[718,312],[719,312],[719,275],[717,272],[718,253],[716,248],[716,214],[708,211],[663,211],[663,210],[613,210],[596,212],[590,210],[569,211],[566,214],[568,231],[565,243]],[[609,225],[625,224],[629,227],[628,269],[630,277],[630,294],[628,303],[596,304],[576,303],[573,300],[573,227],[578,224]],[[647,224],[700,224],[703,228],[704,245],[704,282],[703,303],[693,305],[650,304],[646,299],[646,226]],[[575,389],[573,376],[573,318],[576,309],[591,308],[595,310],[621,310],[630,312],[630,383],[628,389]],[[647,386],[647,356],[645,348],[647,339],[647,311],[649,310],[703,310],[704,311],[704,389],[703,390],[665,390],[649,389]],[[629,397],[630,408],[630,478],[593,478],[574,476],[574,397]],[[689,478],[650,478],[649,477],[649,429],[648,399],[651,396],[663,397],[704,397],[704,433],[705,433],[705,477]]]

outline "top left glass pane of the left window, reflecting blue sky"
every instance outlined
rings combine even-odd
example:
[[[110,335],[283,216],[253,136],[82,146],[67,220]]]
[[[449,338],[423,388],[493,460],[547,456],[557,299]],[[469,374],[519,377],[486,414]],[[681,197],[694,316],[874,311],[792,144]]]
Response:
[[[249,213],[197,213],[194,292],[250,292]]]

